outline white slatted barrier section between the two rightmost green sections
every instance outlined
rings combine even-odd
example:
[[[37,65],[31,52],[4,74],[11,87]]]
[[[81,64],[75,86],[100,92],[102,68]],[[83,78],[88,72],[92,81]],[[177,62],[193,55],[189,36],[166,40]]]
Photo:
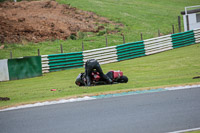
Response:
[[[173,49],[171,35],[144,40],[145,54],[155,54]]]

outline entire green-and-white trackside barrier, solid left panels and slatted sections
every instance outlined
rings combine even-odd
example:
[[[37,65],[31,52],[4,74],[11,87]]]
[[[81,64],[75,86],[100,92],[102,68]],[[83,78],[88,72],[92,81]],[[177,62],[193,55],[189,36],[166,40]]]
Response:
[[[81,68],[88,59],[100,64],[128,60],[200,43],[200,29],[83,52],[0,60],[0,81],[40,76],[41,73]],[[34,70],[34,71],[33,71]]]

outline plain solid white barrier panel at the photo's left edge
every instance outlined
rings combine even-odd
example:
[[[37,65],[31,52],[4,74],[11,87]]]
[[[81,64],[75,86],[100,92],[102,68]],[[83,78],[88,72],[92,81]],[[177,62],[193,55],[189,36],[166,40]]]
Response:
[[[8,59],[0,60],[0,81],[8,81]]]

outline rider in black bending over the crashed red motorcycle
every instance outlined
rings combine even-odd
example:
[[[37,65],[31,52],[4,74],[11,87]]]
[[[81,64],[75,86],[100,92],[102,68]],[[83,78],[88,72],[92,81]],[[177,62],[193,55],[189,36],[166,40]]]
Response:
[[[108,84],[112,83],[112,80],[103,73],[99,62],[96,59],[87,60],[85,64],[85,73],[80,73],[76,78],[75,83],[79,86],[91,86],[91,75],[95,69],[103,80]]]

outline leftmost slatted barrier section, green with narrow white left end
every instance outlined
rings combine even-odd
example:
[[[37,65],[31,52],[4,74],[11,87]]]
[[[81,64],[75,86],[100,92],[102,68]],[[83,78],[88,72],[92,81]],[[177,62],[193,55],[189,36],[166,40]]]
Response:
[[[83,67],[82,52],[42,55],[42,72]]]

